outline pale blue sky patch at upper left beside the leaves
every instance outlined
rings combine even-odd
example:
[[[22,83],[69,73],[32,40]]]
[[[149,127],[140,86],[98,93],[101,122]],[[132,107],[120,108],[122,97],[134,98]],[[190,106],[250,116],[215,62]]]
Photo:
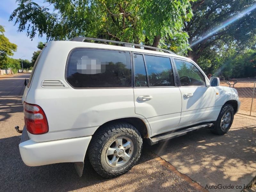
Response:
[[[34,2],[40,4],[44,0],[36,0]],[[9,17],[14,9],[18,7],[16,0],[1,0],[0,6],[0,25],[4,26],[5,33],[4,35],[9,39],[10,42],[18,45],[17,51],[14,52],[12,58],[19,59],[21,56],[22,59],[31,60],[32,54],[37,50],[37,43],[39,41],[46,42],[46,37],[43,36],[39,38],[38,35],[35,36],[33,41],[26,36],[27,30],[23,32],[17,32],[18,25],[14,26],[15,21],[8,21]]]

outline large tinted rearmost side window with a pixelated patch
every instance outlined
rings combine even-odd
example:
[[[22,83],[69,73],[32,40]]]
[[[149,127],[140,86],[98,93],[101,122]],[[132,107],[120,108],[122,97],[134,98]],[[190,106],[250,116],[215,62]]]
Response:
[[[130,52],[75,49],[68,58],[66,78],[75,88],[131,87]]]

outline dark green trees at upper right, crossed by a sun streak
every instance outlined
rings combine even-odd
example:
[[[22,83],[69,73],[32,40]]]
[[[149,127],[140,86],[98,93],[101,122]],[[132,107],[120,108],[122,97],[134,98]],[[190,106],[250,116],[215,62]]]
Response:
[[[184,25],[189,44],[205,36],[207,38],[192,46],[188,56],[206,74],[226,78],[255,76],[253,62],[248,60],[252,60],[253,54],[250,54],[256,44],[256,10],[239,16],[254,4],[254,0],[198,0],[191,3],[194,15]],[[237,20],[230,24],[230,18]],[[210,34],[220,26],[225,27]]]

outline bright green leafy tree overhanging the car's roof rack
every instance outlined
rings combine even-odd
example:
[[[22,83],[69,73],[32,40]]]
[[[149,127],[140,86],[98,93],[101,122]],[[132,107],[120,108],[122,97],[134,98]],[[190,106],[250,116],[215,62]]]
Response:
[[[194,0],[45,0],[53,5],[52,12],[31,0],[18,0],[10,21],[15,19],[18,31],[27,30],[31,39],[36,33],[47,40],[88,36],[177,51],[177,37],[186,51],[188,36],[180,30],[192,16],[190,1]]]

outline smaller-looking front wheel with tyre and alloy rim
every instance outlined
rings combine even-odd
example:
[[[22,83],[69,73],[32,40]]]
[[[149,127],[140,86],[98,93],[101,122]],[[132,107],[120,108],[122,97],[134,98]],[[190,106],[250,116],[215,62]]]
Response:
[[[219,135],[224,135],[225,133],[227,133],[233,123],[234,114],[235,111],[232,105],[223,105],[217,118],[216,125],[212,132]]]

